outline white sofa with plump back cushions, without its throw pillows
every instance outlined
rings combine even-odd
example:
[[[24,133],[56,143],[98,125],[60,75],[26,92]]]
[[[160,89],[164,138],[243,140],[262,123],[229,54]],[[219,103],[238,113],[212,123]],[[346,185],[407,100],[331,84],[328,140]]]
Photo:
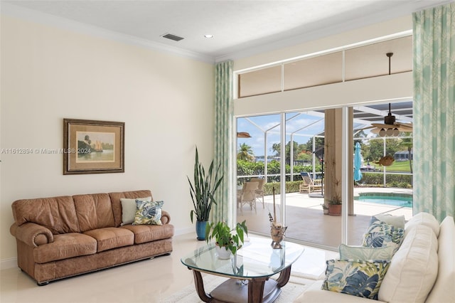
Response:
[[[321,289],[314,282],[294,302],[372,302]],[[455,223],[447,216],[441,224],[429,213],[418,213],[405,225],[400,249],[390,260],[382,280],[379,302],[455,302]]]

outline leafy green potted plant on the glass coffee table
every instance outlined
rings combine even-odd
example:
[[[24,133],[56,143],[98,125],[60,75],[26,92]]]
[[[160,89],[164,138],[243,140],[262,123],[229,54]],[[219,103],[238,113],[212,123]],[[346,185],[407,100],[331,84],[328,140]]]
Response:
[[[235,228],[230,228],[228,223],[220,221],[218,223],[208,223],[205,229],[205,241],[210,243],[212,238],[215,238],[215,245],[220,259],[229,259],[230,255],[235,255],[235,252],[242,247],[244,235],[248,235],[248,228],[245,224],[237,223]],[[234,232],[235,233],[232,233]]]

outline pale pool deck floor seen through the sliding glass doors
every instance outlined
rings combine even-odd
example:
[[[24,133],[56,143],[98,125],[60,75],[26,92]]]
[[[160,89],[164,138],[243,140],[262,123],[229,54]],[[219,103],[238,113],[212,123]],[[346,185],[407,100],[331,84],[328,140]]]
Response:
[[[372,188],[356,187],[354,196],[359,193],[408,193],[412,188]],[[275,196],[277,216],[280,211],[280,197]],[[310,197],[308,193],[287,193],[286,195],[286,223],[287,238],[293,238],[304,243],[312,243],[321,248],[336,250],[341,243],[341,216],[323,215],[321,204],[323,198]],[[237,209],[237,221],[247,220],[248,229],[257,233],[269,233],[267,213],[273,214],[273,196],[264,196],[264,207],[257,202],[257,208],[250,210],[244,206],[242,211]],[[348,244],[360,245],[363,233],[370,223],[371,216],[379,213],[390,213],[393,216],[405,216],[405,220],[412,217],[412,208],[393,206],[365,201],[353,201],[353,214],[348,216]],[[334,229],[334,226],[339,228]]]

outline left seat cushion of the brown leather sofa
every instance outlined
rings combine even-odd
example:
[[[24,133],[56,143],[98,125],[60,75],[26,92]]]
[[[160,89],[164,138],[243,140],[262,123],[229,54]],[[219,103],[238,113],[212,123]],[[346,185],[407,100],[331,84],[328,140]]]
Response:
[[[33,250],[33,259],[36,263],[45,263],[56,260],[92,255],[97,252],[97,241],[82,233],[65,233],[54,235],[54,241],[40,245]]]

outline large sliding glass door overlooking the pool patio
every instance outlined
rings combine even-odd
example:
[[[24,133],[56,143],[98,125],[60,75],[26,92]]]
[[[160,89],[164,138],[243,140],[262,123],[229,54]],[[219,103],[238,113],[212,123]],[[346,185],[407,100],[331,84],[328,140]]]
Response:
[[[287,225],[289,240],[336,250],[343,216],[349,245],[361,244],[375,214],[412,216],[412,132],[381,137],[372,123],[382,111],[365,115],[382,107],[348,108],[348,179],[341,171],[341,109],[238,117],[237,221],[269,235],[276,220]],[[412,117],[412,102],[398,107],[411,108]],[[346,214],[332,209],[335,200],[346,204]]]

